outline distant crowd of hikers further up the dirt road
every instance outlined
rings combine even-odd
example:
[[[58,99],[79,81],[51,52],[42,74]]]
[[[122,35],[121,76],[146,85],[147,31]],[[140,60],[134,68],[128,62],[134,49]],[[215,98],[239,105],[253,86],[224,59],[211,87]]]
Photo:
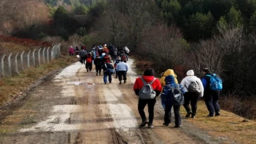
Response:
[[[95,64],[96,75],[101,75],[101,70],[103,69],[103,80],[104,84],[107,84],[107,80],[109,83],[112,82],[112,75],[116,75],[116,78],[119,79],[119,84],[126,83],[126,73],[128,71],[128,54],[130,50],[128,47],[114,47],[113,44],[107,47],[107,44],[99,46],[93,45],[91,49],[87,49],[85,45],[81,46],[79,49],[76,46],[76,49],[70,47],[70,56],[72,52],[76,52],[76,55],[80,57],[80,63],[85,64],[85,68],[87,72],[92,71],[92,65]],[[114,66],[112,61],[114,62]]]

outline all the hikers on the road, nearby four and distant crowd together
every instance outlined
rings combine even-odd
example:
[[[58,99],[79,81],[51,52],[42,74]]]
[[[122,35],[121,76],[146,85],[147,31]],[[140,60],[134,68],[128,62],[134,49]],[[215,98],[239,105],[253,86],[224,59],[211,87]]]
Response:
[[[73,47],[70,47],[72,49]],[[87,52],[88,51],[88,52]],[[85,64],[87,72],[92,70],[92,64],[95,64],[96,75],[101,75],[103,69],[104,84],[112,82],[112,75],[119,79],[119,84],[126,83],[126,73],[129,69],[128,64],[128,47],[115,48],[114,45],[105,44],[92,49],[87,49],[82,45],[81,49],[76,47],[76,55],[80,57],[80,63]],[[72,50],[70,51],[72,53]],[[72,56],[72,54],[70,54]],[[112,61],[114,61],[114,66]],[[173,107],[175,128],[181,127],[180,106],[183,105],[186,109],[185,117],[195,118],[197,114],[197,101],[199,97],[204,97],[205,104],[209,111],[208,117],[220,116],[220,107],[218,104],[219,94],[222,90],[221,78],[212,73],[210,69],[202,69],[204,76],[200,79],[195,76],[192,69],[186,72],[186,77],[181,83],[178,83],[173,69],[168,69],[162,73],[162,78],[155,78],[154,69],[150,68],[149,64],[145,64],[143,68],[143,76],[136,79],[133,90],[138,95],[138,112],[142,118],[140,127],[148,124],[149,128],[154,128],[154,106],[156,97],[161,95],[161,104],[165,111],[164,126],[169,126],[171,123],[171,109]],[[145,116],[144,108],[148,105],[149,121]],[[190,108],[191,105],[191,108]]]

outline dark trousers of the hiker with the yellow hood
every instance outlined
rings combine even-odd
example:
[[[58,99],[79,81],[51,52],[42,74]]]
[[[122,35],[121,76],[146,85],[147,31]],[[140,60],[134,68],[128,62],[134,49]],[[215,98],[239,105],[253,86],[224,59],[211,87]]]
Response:
[[[174,119],[175,119],[175,126],[181,125],[181,118],[180,118],[180,105],[166,105],[166,110],[164,112],[164,123],[169,124],[171,123],[171,107],[173,106],[174,111]]]

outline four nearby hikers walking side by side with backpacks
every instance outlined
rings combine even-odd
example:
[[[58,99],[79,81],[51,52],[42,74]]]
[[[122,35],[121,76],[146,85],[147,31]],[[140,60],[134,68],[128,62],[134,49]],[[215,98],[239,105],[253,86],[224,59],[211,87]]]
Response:
[[[197,114],[197,101],[199,97],[204,97],[205,104],[209,111],[208,117],[220,116],[218,104],[219,93],[222,90],[221,78],[212,73],[210,69],[202,69],[204,76],[200,79],[194,75],[190,69],[186,72],[186,77],[178,83],[173,69],[168,69],[162,73],[162,78],[155,78],[155,72],[149,64],[145,65],[143,76],[136,79],[133,90],[138,95],[138,112],[142,118],[140,127],[148,124],[149,128],[154,128],[154,106],[156,97],[161,95],[161,104],[165,111],[164,126],[171,123],[171,109],[173,107],[175,126],[181,127],[180,106],[186,109],[185,117],[195,118]],[[144,108],[148,105],[149,121],[145,116]],[[191,105],[191,108],[190,108]]]

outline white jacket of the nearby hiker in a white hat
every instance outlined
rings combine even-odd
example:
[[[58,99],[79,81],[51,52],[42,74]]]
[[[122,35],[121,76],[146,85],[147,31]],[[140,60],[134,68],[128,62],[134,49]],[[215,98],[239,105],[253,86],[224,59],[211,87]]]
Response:
[[[190,85],[191,82],[196,81],[198,83],[198,86],[200,88],[200,96],[204,96],[204,86],[200,78],[197,78],[197,76],[186,76],[183,78],[181,81],[180,85],[184,88],[185,92],[188,92],[188,86]]]

